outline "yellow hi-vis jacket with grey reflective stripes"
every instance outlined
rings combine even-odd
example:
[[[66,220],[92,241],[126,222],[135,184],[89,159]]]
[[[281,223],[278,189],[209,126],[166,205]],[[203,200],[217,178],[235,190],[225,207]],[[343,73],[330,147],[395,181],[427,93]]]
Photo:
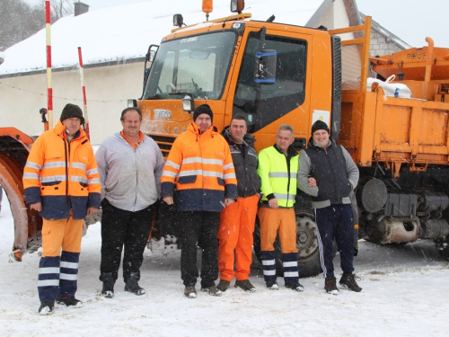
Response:
[[[277,146],[269,146],[259,153],[258,174],[262,181],[262,203],[276,198],[280,207],[295,205],[298,157],[293,147],[284,155]]]

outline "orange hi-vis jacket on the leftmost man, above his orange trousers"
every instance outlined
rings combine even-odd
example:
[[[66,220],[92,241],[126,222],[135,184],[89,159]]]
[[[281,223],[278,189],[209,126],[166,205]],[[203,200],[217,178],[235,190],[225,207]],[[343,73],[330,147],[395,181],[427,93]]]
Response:
[[[42,203],[41,217],[84,218],[87,208],[100,208],[101,182],[92,145],[79,129],[72,141],[59,120],[31,146],[23,170],[27,204]]]

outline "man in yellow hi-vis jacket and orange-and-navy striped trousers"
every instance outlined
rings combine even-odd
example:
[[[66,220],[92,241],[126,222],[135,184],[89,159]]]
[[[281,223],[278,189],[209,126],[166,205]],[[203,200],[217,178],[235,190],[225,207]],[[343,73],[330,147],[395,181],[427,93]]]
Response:
[[[303,291],[299,284],[296,249],[295,197],[298,154],[293,144],[294,129],[283,124],[277,129],[276,144],[259,154],[258,173],[263,193],[260,218],[260,258],[267,288],[278,289],[275,248],[279,234],[286,288]]]

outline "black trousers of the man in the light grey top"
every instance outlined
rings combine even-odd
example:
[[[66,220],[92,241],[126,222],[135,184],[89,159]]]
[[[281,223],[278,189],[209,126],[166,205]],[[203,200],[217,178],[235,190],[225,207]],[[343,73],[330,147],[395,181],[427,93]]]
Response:
[[[101,265],[102,274],[112,273],[115,280],[119,276],[121,252],[123,255],[123,279],[128,281],[131,272],[140,279],[140,266],[144,261],[145,245],[150,235],[155,204],[131,212],[116,208],[106,199],[101,201]]]

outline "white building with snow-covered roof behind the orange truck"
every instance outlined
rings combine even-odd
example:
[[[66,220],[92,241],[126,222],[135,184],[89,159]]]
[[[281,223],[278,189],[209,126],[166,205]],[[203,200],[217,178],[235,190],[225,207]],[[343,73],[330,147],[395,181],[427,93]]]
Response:
[[[82,4],[81,10],[75,9],[78,15],[53,24],[53,124],[66,103],[83,106],[78,67],[81,47],[92,144],[100,144],[121,129],[120,112],[127,107],[128,99],[139,98],[142,93],[148,47],[159,44],[172,30],[174,13],[182,13],[187,24],[205,21],[201,2],[197,2],[198,6],[188,1],[166,0],[158,7],[154,7],[154,2],[145,2],[87,13]],[[308,27],[324,25],[333,29],[361,24],[356,0],[281,0],[275,8],[272,0],[246,0],[245,4],[254,20],[265,21],[275,14],[275,22]],[[230,14],[229,0],[216,1],[209,19]],[[402,42],[398,48],[408,48]],[[39,111],[48,106],[46,66],[45,30],[0,54],[0,127],[15,127],[28,135],[43,131]]]

